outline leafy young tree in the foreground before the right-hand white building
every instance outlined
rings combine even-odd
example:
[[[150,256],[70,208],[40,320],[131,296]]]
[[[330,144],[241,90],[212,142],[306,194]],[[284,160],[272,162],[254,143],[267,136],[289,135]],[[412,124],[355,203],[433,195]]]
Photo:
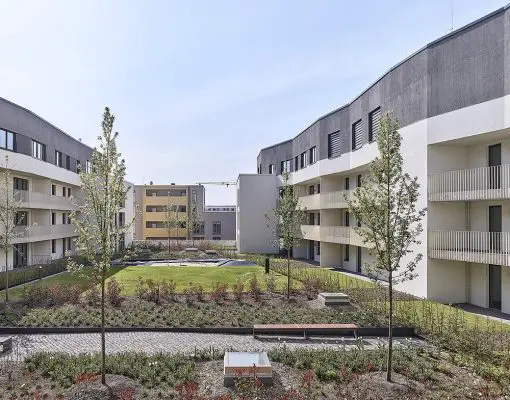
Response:
[[[381,275],[388,279],[388,381],[392,369],[393,287],[417,276],[415,269],[422,254],[411,254],[420,244],[421,220],[426,211],[417,209],[418,178],[411,178],[403,170],[398,129],[398,121],[390,115],[381,120],[377,135],[380,156],[371,162],[368,177],[348,200],[350,212],[362,222],[362,227],[354,229],[374,256],[369,270],[376,273],[376,279]],[[406,264],[401,265],[404,257]]]

